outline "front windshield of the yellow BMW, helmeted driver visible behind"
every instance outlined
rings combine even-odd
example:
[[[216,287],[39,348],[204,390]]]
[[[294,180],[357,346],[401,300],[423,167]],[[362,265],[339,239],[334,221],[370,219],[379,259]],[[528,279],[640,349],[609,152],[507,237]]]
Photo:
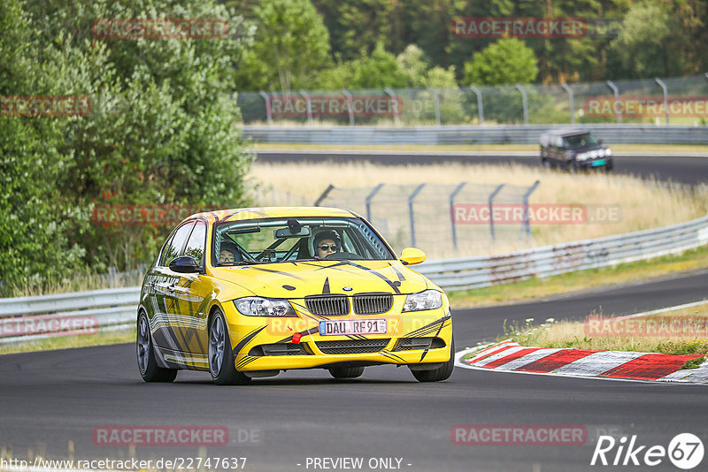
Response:
[[[395,259],[361,218],[290,217],[214,225],[212,264]]]

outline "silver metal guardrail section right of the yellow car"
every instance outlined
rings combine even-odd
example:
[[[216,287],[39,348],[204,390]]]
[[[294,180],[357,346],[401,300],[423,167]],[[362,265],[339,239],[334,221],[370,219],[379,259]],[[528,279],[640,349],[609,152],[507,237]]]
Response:
[[[417,270],[446,290],[466,290],[630,263],[681,253],[705,244],[708,244],[708,217],[701,217],[679,225],[537,247],[506,255],[422,263]]]

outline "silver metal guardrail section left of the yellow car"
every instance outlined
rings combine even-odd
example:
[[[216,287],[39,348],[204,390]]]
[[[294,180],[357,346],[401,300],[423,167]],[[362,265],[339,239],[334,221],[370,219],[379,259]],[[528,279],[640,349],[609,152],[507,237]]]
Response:
[[[0,343],[135,325],[140,287],[0,299]]]

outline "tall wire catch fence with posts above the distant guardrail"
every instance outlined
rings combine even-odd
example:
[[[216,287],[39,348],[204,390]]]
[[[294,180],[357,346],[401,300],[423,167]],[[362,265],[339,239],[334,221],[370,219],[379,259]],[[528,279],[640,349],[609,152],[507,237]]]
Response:
[[[708,77],[240,92],[244,125],[454,126],[708,123]]]

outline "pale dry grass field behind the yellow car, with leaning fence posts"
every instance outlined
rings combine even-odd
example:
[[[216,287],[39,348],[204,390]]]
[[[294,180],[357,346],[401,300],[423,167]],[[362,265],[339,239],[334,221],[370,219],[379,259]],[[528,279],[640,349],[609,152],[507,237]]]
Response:
[[[500,165],[401,165],[361,164],[259,164],[250,177],[257,184],[254,200],[259,205],[312,205],[330,184],[335,191],[323,206],[338,206],[364,213],[366,194],[380,183],[381,191],[372,202],[372,222],[389,243],[400,251],[411,244],[407,195],[415,186],[427,187],[415,199],[416,246],[431,259],[466,255],[501,254],[526,247],[539,247],[573,240],[598,238],[672,225],[708,213],[708,187],[692,191],[680,186],[642,180],[633,176],[604,172],[567,174],[544,171],[540,166]],[[496,202],[521,202],[523,188],[538,180],[529,198],[534,205],[581,205],[587,218],[564,220],[555,225],[532,225],[527,237],[519,224],[496,225],[491,240],[489,225],[457,225],[458,248],[451,244],[449,196],[461,182],[465,192],[456,203],[484,204],[489,189],[506,184],[509,190]],[[512,194],[512,186],[519,186]],[[394,190],[399,189],[398,196]],[[479,189],[475,193],[474,189]],[[386,195],[384,195],[386,194]],[[499,194],[500,197],[504,192]],[[392,199],[397,198],[397,202]],[[606,211],[612,215],[606,218]],[[365,215],[366,216],[366,215]],[[591,221],[593,217],[600,221]]]

